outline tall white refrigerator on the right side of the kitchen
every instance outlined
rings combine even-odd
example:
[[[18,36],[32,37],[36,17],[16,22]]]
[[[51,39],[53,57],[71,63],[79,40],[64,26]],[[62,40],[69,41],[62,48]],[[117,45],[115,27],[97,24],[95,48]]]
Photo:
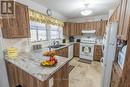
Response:
[[[106,27],[103,44],[103,62],[102,62],[102,83],[101,87],[110,87],[112,65],[115,58],[116,42],[117,42],[118,23],[111,22]]]

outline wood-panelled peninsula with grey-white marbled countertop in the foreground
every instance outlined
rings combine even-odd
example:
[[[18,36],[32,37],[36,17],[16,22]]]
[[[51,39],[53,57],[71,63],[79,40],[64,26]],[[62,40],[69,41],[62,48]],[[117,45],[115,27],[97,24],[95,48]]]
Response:
[[[68,87],[70,59],[56,56],[56,66],[41,66],[40,63],[46,59],[48,57],[43,56],[41,50],[20,53],[13,60],[6,57],[10,87]]]

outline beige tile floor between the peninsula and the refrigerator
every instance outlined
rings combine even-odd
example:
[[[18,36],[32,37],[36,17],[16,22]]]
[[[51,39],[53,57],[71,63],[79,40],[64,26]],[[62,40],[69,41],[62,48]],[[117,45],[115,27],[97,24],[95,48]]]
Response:
[[[79,58],[74,58],[70,64],[75,66],[69,76],[69,87],[101,87],[101,64],[82,63]]]

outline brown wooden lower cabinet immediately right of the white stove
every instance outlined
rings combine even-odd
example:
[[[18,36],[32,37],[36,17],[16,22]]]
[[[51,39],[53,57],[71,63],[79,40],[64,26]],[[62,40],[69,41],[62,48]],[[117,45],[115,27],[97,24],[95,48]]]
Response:
[[[102,46],[101,45],[95,45],[94,46],[94,60],[100,61],[102,58]]]

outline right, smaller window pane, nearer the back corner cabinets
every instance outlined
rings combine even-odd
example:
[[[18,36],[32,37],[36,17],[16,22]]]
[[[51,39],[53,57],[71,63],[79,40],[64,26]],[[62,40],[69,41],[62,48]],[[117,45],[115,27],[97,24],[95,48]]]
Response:
[[[59,26],[51,25],[50,27],[50,38],[51,39],[60,39],[62,38],[62,29]]]

